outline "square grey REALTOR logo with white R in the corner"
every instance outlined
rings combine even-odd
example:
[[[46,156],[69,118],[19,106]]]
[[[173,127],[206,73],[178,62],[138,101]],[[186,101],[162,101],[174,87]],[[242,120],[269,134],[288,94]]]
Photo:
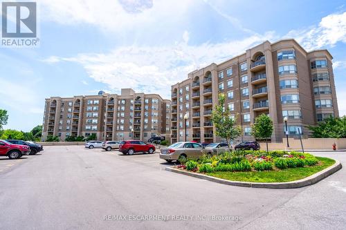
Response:
[[[1,3],[1,45],[37,46],[37,3]]]

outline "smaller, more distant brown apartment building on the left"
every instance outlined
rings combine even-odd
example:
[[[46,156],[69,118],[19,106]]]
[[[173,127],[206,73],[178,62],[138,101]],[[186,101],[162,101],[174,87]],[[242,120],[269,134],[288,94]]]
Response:
[[[170,138],[170,100],[160,95],[135,93],[51,97],[44,109],[43,140],[48,135],[65,140],[69,135],[95,133],[98,140],[147,140],[156,135]]]

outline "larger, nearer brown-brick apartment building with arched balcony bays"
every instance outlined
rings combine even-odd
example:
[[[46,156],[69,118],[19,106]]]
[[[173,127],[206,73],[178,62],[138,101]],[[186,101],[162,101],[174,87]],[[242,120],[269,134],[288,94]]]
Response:
[[[334,74],[328,50],[307,52],[294,39],[284,39],[246,50],[242,55],[194,70],[171,87],[172,142],[217,142],[210,121],[219,93],[242,126],[240,140],[253,140],[251,125],[265,113],[273,119],[272,141],[286,135],[309,135],[307,126],[325,117],[338,117]]]

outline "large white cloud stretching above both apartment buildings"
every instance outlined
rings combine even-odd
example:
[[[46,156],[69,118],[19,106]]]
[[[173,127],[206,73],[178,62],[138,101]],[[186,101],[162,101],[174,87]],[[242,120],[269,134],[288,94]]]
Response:
[[[76,57],[48,57],[51,62],[71,61],[81,64],[96,82],[107,84],[111,90],[134,88],[146,93],[170,97],[170,86],[186,79],[197,68],[239,55],[247,48],[273,39],[273,32],[253,35],[239,41],[219,44],[187,44],[188,32],[174,46],[127,46],[107,54],[84,53]]]

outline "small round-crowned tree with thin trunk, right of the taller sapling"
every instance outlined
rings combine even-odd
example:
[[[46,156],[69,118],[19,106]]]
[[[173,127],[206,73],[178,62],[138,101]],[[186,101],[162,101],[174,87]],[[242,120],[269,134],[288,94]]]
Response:
[[[273,134],[273,121],[271,117],[266,114],[261,114],[256,117],[255,124],[253,124],[252,135],[258,139],[266,140],[266,151],[268,152],[268,138]]]

